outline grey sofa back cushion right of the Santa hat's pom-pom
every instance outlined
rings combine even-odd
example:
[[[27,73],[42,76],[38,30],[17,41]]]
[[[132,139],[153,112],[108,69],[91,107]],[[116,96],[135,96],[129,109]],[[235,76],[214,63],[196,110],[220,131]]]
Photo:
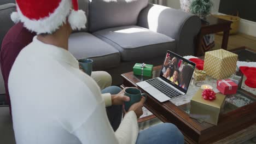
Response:
[[[148,0],[91,0],[89,3],[89,31],[136,25],[139,12]]]

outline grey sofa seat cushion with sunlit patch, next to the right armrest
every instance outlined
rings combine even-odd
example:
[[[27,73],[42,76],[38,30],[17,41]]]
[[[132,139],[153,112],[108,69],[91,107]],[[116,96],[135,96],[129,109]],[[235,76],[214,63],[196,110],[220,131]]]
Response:
[[[176,47],[174,39],[138,26],[108,28],[93,34],[118,49],[123,61],[164,56]]]

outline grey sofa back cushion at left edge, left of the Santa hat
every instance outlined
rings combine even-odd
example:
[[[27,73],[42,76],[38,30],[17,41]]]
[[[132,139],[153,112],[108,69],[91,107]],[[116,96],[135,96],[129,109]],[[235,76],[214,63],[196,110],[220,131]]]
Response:
[[[13,11],[15,10],[16,7],[14,3],[0,5],[0,47],[2,45],[4,35],[15,24],[10,19],[10,14],[13,13]]]

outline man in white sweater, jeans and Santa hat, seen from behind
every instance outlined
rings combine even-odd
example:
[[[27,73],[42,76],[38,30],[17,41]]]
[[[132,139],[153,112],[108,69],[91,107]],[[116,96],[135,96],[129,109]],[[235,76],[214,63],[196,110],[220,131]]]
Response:
[[[77,0],[16,2],[18,14],[12,19],[37,33],[21,50],[9,75],[16,143],[184,143],[173,124],[138,133],[144,97],[113,130],[105,107],[122,105],[129,98],[117,87],[101,94],[97,83],[79,70],[68,52],[72,29],[84,28],[86,22]],[[69,11],[72,4],[74,10]]]

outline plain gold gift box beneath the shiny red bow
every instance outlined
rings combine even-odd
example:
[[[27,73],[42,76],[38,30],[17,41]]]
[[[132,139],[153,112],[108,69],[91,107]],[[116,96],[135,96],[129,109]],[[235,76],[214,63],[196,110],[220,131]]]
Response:
[[[226,96],[220,93],[216,94],[215,100],[205,100],[202,98],[203,89],[199,89],[190,101],[189,116],[199,121],[218,124],[219,113],[223,109]]]

